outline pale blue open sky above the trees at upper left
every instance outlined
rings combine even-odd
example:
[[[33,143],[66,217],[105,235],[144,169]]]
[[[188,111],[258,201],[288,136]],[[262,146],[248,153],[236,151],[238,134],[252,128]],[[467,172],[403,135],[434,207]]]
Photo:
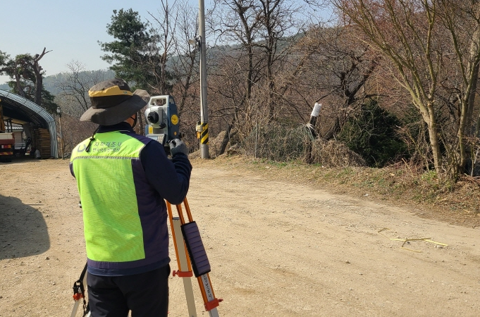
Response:
[[[198,0],[188,0],[198,8]],[[168,1],[172,4],[173,1]],[[21,4],[21,5],[20,5]],[[204,0],[205,11],[210,0]],[[106,25],[111,22],[113,10],[132,8],[142,20],[161,8],[159,0],[23,0],[1,1],[0,51],[11,57],[17,54],[45,54],[39,64],[45,75],[67,71],[67,64],[79,61],[87,70],[106,69],[104,55],[98,41],[111,42]],[[8,76],[0,76],[0,84]]]

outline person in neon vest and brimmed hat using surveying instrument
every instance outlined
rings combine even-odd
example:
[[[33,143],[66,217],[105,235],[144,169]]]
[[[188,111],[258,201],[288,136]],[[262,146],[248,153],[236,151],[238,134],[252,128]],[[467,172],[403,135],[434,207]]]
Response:
[[[87,247],[87,289],[93,317],[167,316],[167,211],[164,199],[180,204],[192,166],[179,139],[164,147],[137,135],[144,90],[130,91],[121,79],[94,85],[92,107],[80,120],[99,124],[70,159],[82,202]]]

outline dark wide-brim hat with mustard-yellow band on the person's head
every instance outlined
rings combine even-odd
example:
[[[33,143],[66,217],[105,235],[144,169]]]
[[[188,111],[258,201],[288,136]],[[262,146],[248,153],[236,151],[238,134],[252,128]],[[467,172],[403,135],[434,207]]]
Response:
[[[115,78],[94,85],[88,91],[92,106],[80,117],[99,125],[121,123],[147,105],[150,95],[142,89],[130,91],[127,82]]]

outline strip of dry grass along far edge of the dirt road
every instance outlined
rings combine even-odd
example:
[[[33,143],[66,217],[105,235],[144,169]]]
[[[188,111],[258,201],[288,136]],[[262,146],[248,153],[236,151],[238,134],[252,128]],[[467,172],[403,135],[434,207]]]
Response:
[[[229,144],[226,154],[217,156],[223,134],[210,140],[209,154],[214,159],[200,159],[199,151],[190,154],[190,159],[205,166],[210,164],[215,168],[242,170],[272,180],[308,184],[336,194],[388,201],[397,206],[415,206],[414,209],[421,211],[418,215],[425,218],[480,226],[480,178],[464,175],[457,182],[442,180],[436,173],[425,172],[422,166],[405,161],[386,168],[369,168],[361,156],[342,143],[315,139],[308,154],[304,143],[309,139],[300,132],[293,136],[297,139],[284,138],[292,142],[297,151],[303,149],[303,152],[288,162],[272,160],[278,155],[272,154],[271,149],[265,152],[269,155],[264,156],[269,159],[254,159],[252,149],[246,150],[245,144],[243,147],[240,144],[230,147]],[[282,140],[273,142],[276,145],[273,148],[285,151],[282,144],[288,142]],[[305,163],[307,161],[310,163]]]

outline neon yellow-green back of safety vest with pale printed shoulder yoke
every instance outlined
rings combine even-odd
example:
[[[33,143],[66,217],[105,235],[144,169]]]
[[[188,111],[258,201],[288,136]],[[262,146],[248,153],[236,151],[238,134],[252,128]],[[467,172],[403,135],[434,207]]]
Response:
[[[87,257],[126,262],[145,258],[132,161],[144,143],[121,132],[97,133],[78,144],[70,161],[77,180]]]

